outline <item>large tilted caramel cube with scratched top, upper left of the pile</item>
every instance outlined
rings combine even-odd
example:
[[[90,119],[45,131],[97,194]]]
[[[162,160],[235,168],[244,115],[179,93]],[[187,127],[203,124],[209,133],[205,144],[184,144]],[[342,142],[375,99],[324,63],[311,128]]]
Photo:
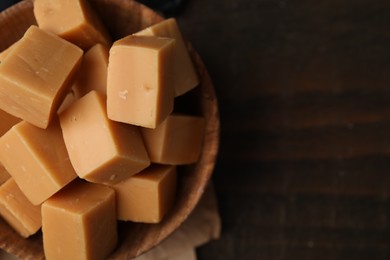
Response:
[[[82,55],[77,46],[32,25],[0,63],[0,109],[46,128]]]

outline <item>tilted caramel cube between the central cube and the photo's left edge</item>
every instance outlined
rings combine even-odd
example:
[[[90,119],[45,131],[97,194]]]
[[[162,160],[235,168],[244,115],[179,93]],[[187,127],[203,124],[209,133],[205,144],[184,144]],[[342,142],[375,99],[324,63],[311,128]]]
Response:
[[[34,205],[77,177],[58,120],[44,130],[25,121],[0,138],[0,162]]]

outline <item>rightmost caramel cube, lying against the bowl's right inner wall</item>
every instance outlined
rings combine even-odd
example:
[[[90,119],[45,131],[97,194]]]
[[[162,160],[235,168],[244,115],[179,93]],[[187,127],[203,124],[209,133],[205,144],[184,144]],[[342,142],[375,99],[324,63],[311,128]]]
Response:
[[[151,162],[172,165],[196,162],[202,149],[204,124],[202,117],[172,114],[156,129],[142,128]]]

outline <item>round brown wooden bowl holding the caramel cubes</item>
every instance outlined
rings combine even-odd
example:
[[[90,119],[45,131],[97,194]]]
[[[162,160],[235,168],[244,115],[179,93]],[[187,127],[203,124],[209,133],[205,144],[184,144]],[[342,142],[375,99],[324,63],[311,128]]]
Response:
[[[134,33],[163,19],[147,7],[131,0],[89,1],[114,39]],[[36,24],[32,0],[20,2],[0,13],[0,51],[19,39],[31,24]],[[170,235],[194,209],[212,175],[219,145],[217,99],[199,55],[190,44],[188,48],[201,83],[191,93],[179,97],[177,103],[187,104],[187,106],[191,104],[189,111],[201,114],[206,119],[201,158],[196,164],[179,167],[176,202],[161,223],[119,222],[119,244],[110,257],[112,259],[133,258]],[[0,219],[0,248],[22,259],[44,259],[40,231],[28,239],[23,239],[2,219]]]

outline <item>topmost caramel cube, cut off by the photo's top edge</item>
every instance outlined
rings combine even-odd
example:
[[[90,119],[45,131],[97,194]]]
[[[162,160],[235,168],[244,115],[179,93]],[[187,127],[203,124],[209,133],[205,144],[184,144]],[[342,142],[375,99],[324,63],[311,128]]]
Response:
[[[84,50],[97,43],[111,44],[102,21],[87,0],[35,0],[34,15],[40,28],[55,33]]]

